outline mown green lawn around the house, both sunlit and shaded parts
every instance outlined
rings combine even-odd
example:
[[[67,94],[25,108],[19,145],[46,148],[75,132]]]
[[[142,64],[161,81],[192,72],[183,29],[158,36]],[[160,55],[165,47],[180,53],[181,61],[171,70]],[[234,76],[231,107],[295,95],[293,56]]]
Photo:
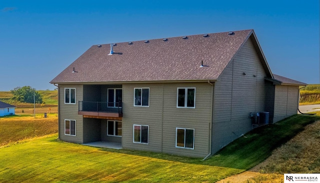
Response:
[[[5,155],[0,156],[0,182],[214,183],[262,162],[272,150],[319,118],[295,115],[277,124],[257,128],[206,161],[161,153],[86,147],[59,141],[56,135],[48,136],[0,148],[0,154]]]

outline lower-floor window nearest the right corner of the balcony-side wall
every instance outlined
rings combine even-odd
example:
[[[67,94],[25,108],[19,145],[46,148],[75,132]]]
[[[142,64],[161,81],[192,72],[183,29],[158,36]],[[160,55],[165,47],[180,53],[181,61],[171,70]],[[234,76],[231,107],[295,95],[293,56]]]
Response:
[[[194,149],[194,129],[176,128],[175,147]]]

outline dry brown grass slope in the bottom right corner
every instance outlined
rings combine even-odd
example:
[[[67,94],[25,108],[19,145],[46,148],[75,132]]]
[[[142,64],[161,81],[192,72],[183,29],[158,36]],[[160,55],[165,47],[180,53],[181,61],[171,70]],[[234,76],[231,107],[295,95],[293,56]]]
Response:
[[[257,167],[262,173],[319,173],[320,172],[320,121],[276,149]]]

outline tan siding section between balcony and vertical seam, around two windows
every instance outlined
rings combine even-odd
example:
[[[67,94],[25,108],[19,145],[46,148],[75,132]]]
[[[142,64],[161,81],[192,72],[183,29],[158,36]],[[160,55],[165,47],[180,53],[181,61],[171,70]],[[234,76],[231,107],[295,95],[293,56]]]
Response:
[[[163,84],[123,84],[122,147],[161,152]],[[133,106],[134,88],[149,88],[149,107]],[[148,144],[133,143],[133,124],[148,125]]]

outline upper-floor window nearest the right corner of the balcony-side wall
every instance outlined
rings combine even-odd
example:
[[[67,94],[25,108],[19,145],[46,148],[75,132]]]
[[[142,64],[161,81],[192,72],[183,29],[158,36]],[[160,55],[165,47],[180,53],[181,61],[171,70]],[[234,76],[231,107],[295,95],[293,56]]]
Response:
[[[195,88],[177,88],[176,107],[195,108]]]

